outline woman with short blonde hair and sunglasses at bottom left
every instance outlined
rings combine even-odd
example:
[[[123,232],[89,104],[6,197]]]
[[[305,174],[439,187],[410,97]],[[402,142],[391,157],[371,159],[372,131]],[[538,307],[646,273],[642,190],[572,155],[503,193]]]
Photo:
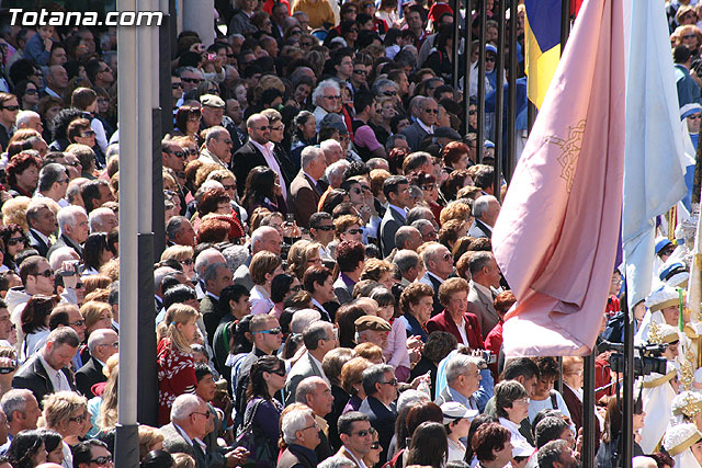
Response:
[[[64,466],[72,467],[70,447],[80,442],[89,420],[88,400],[75,391],[57,391],[44,399],[44,426],[64,438]]]

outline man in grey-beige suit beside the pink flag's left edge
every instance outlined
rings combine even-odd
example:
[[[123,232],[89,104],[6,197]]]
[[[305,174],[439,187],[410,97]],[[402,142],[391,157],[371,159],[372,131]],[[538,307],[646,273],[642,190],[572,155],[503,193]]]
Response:
[[[497,266],[492,252],[474,252],[468,260],[471,270],[471,290],[468,292],[467,311],[474,313],[480,321],[483,340],[499,322],[495,310],[492,288],[500,287],[500,267]]]

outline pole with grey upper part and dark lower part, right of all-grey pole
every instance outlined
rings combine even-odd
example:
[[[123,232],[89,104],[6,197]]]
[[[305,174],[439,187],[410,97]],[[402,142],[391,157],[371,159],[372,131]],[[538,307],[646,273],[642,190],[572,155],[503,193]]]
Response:
[[[156,10],[152,0],[139,2],[141,9]],[[138,310],[139,310],[139,355],[156,355],[156,333],[154,323],[154,232],[152,232],[152,106],[158,102],[155,79],[158,77],[158,60],[152,56],[154,42],[158,41],[158,30],[149,26],[137,27],[137,138],[138,138]],[[159,153],[160,157],[160,153]],[[138,418],[143,424],[157,421],[158,379],[155,359],[144,358],[137,365],[139,393]]]

